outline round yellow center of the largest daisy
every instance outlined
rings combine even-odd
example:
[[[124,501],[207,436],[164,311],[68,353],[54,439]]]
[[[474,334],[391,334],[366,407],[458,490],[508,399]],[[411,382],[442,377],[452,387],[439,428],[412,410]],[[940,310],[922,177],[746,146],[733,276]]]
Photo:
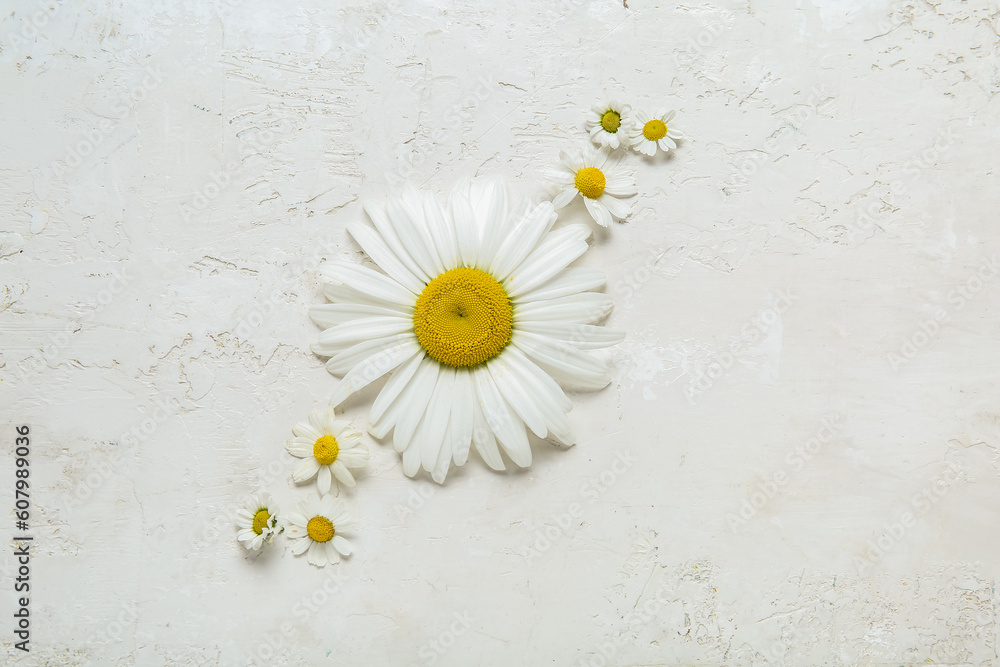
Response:
[[[514,310],[496,278],[479,269],[445,271],[417,297],[413,331],[431,359],[447,366],[481,364],[510,342]]]

